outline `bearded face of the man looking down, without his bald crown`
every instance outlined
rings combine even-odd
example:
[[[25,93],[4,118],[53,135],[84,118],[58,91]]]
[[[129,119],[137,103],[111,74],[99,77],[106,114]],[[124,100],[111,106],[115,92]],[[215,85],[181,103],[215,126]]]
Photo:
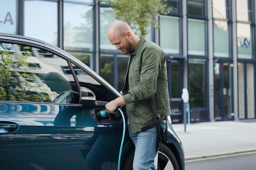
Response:
[[[112,36],[109,38],[110,42],[116,46],[117,50],[121,50],[124,54],[130,54],[132,51],[132,43],[128,39],[128,36]]]

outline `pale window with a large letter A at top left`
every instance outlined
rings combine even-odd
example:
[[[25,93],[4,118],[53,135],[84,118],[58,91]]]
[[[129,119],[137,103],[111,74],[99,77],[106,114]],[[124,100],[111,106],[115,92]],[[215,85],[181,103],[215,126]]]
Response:
[[[0,33],[16,34],[16,0],[2,1],[0,5]]]

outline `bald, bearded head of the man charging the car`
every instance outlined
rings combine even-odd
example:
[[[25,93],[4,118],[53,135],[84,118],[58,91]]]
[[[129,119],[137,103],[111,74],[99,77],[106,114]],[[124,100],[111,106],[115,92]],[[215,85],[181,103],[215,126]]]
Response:
[[[108,40],[124,54],[135,51],[139,38],[132,31],[130,25],[124,21],[112,22],[108,29]]]

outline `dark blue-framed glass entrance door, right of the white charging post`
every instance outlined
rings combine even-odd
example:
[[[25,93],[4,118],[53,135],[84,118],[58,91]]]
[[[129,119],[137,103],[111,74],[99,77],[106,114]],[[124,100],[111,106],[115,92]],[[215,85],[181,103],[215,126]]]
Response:
[[[215,120],[233,119],[231,114],[231,67],[228,62],[214,65]]]

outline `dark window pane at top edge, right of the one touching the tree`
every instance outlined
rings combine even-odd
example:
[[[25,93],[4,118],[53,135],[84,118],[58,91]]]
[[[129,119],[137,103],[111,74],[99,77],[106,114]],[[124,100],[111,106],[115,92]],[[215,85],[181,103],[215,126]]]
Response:
[[[205,16],[204,0],[188,0],[187,3],[189,15]]]

